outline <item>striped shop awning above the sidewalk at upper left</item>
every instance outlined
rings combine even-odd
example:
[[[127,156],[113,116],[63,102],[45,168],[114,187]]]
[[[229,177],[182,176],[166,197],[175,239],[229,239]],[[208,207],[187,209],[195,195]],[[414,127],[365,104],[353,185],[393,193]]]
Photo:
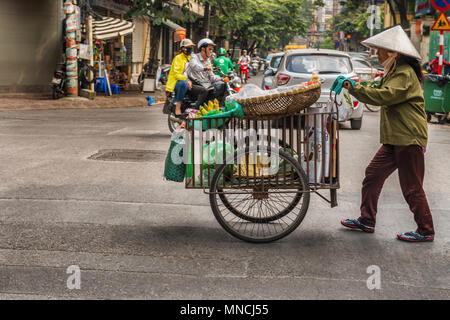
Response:
[[[103,17],[100,21],[93,21],[92,28],[95,39],[107,40],[133,33],[134,23],[116,18]]]

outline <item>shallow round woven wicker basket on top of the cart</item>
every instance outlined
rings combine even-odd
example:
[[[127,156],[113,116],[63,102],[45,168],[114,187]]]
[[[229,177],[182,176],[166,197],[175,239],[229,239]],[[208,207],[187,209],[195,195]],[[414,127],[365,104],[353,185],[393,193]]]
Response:
[[[315,103],[321,92],[320,82],[306,88],[261,97],[236,100],[246,116],[275,116],[297,113]]]

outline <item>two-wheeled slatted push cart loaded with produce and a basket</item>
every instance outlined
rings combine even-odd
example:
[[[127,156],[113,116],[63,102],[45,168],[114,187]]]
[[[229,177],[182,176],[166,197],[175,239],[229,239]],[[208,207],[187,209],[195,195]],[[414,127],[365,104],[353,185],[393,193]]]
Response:
[[[337,104],[307,108],[319,96],[320,84],[309,94],[238,101],[244,117],[187,123],[185,187],[209,195],[214,216],[231,235],[249,242],[287,236],[305,217],[311,193],[337,206]]]

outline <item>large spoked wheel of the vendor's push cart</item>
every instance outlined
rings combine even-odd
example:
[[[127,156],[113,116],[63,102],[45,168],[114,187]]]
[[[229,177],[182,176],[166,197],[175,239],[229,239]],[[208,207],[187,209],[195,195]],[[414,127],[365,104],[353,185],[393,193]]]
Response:
[[[245,155],[256,152],[256,148],[247,148]],[[248,186],[243,178],[239,186],[230,175],[235,167],[231,163],[237,163],[238,157],[243,155],[236,152],[233,159],[217,168],[212,178],[209,200],[214,216],[238,239],[259,243],[281,239],[300,225],[308,210],[310,195],[306,175],[290,154],[279,151],[278,162],[284,161],[291,168],[285,180],[289,186],[282,185],[281,181],[277,183],[273,176],[270,180],[250,178]],[[233,187],[229,186],[231,183]]]

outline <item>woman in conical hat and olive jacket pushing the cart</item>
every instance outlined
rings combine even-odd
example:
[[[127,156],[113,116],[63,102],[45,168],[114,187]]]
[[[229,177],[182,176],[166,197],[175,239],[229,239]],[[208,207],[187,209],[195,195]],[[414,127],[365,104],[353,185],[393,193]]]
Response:
[[[418,227],[415,231],[397,234],[397,238],[408,242],[433,241],[433,219],[423,190],[428,129],[421,89],[421,57],[400,26],[362,43],[377,50],[378,60],[384,66],[381,83],[365,87],[341,76],[333,87],[345,87],[359,101],[381,106],[382,146],[365,171],[361,216],[344,219],[341,223],[348,228],[374,232],[378,198],[384,181],[398,169],[403,196]]]

